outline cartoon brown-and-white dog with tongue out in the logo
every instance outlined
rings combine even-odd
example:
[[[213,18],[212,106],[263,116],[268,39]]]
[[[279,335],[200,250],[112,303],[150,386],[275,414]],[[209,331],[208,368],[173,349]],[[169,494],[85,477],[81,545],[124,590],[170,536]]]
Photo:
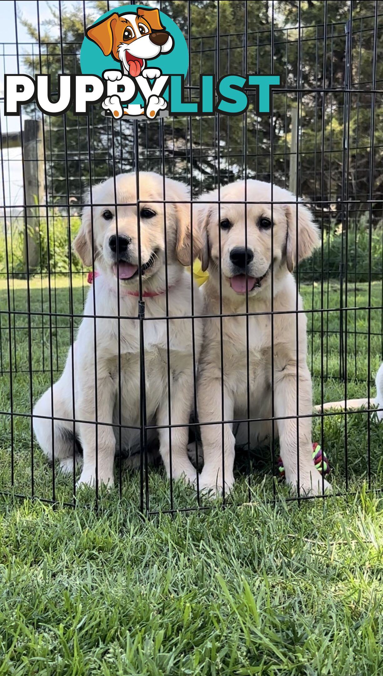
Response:
[[[105,80],[121,80],[123,75],[136,78],[139,75],[149,80],[158,78],[162,73],[159,68],[148,68],[147,62],[161,53],[170,53],[174,47],[174,39],[161,24],[158,9],[138,7],[137,13],[111,14],[105,19],[86,29],[86,37],[102,49],[105,56],[112,55],[120,63],[120,70],[105,70]],[[159,110],[167,107],[161,96],[152,95],[147,101],[147,114],[157,116]],[[105,110],[110,110],[115,118],[127,115],[143,115],[141,105],[130,103],[122,108],[120,97],[107,97],[103,103]]]

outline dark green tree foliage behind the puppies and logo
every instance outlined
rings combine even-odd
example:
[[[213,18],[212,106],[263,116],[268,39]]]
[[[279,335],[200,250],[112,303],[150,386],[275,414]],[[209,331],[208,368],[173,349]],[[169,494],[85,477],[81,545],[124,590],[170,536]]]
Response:
[[[53,83],[60,72],[80,72],[84,26],[107,11],[106,2],[84,5],[85,16],[83,3],[61,5],[61,15],[51,7],[40,37],[36,26],[24,21],[40,46],[40,55],[25,57],[29,72],[50,72]],[[322,224],[346,217],[356,221],[369,200],[375,218],[381,218],[382,98],[372,93],[374,82],[379,89],[383,79],[382,31],[376,30],[381,0],[235,0],[221,1],[219,7],[215,0],[163,0],[161,9],[188,41],[186,84],[192,98],[198,97],[201,73],[218,77],[272,71],[282,80],[272,118],[255,114],[253,95],[245,116],[219,120],[176,117],[134,125],[103,117],[98,106],[88,121],[72,112],[65,120],[45,117],[48,178],[57,205],[68,204],[68,199],[82,202],[90,180],[134,170],[136,162],[141,169],[165,170],[191,182],[195,195],[218,180],[227,183],[245,175],[288,187],[298,157],[297,190],[315,203]],[[59,22],[62,49],[52,38]],[[32,107],[30,114],[36,114]],[[297,150],[291,147],[292,120],[299,132]],[[345,215],[341,202],[346,197],[353,203]]]

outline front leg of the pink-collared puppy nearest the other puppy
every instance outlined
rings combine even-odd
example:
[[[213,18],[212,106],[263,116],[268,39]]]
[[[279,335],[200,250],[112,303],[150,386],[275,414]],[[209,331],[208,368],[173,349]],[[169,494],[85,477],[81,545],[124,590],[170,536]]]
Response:
[[[191,400],[193,397],[193,371],[177,374],[170,383],[170,417],[171,424],[183,427],[167,427],[159,429],[159,452],[165,465],[166,475],[173,479],[184,477],[194,483],[197,470],[188,459],[188,422],[190,418]],[[169,425],[169,403],[165,395],[157,410],[157,425]],[[172,441],[172,462],[170,462],[170,434]]]

